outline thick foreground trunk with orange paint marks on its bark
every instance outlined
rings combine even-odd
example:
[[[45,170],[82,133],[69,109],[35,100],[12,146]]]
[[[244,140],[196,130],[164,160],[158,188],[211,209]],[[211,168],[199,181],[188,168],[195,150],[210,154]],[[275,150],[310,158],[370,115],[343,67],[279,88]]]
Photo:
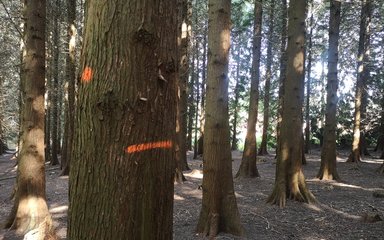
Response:
[[[172,239],[177,2],[86,4],[68,239]]]

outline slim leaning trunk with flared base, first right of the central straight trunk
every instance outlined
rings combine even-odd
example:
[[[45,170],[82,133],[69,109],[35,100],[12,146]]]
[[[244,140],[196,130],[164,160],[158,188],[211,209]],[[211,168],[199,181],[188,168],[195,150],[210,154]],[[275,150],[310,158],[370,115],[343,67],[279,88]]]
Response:
[[[236,177],[259,177],[257,170],[256,124],[259,105],[262,1],[255,1],[252,45],[251,92],[248,109],[247,135],[241,165]]]

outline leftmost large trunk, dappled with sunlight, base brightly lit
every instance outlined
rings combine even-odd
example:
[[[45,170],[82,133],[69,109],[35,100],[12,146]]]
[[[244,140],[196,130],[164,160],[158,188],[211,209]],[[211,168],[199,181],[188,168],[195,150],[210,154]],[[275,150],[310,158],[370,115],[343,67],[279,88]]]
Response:
[[[20,234],[39,226],[43,228],[41,235],[50,234],[52,230],[45,200],[45,4],[44,0],[24,1],[22,147],[18,159],[15,201],[6,222],[7,228],[15,229]]]

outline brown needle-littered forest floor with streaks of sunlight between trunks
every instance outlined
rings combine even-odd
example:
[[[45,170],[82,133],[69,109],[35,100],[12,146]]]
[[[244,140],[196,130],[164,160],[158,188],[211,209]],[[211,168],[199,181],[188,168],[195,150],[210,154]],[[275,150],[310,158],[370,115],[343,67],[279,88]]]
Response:
[[[12,207],[10,199],[15,183],[16,169],[11,155],[0,157],[0,220],[4,220]],[[303,166],[308,187],[318,203],[303,204],[288,201],[283,209],[266,203],[275,179],[274,155],[258,159],[260,178],[235,179],[237,203],[246,236],[219,234],[216,239],[301,239],[301,240],[372,240],[384,239],[384,221],[373,222],[376,216],[384,219],[384,198],[374,192],[384,191],[384,176],[376,170],[383,160],[364,158],[359,164],[346,163],[347,152],[338,157],[338,172],[342,182],[319,181],[315,175],[320,167],[320,152],[313,150]],[[233,152],[233,172],[241,162],[241,152]],[[187,181],[175,185],[174,239],[201,239],[195,233],[200,213],[202,190],[202,161],[189,159],[192,170],[186,171]],[[66,239],[68,209],[68,177],[60,177],[57,167],[47,167],[47,200],[54,218],[58,236]],[[368,217],[367,217],[368,216]],[[367,220],[368,219],[368,220]],[[0,231],[1,239],[11,232]],[[7,237],[8,236],[8,237]],[[129,238],[127,238],[129,239]]]

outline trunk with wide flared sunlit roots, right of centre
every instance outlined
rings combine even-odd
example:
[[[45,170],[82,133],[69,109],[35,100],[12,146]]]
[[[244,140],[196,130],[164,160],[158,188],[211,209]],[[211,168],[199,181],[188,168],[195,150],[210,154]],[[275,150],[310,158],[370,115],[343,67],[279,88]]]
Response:
[[[305,7],[303,7],[305,6]],[[284,207],[286,199],[314,201],[301,169],[302,104],[304,95],[304,44],[306,1],[289,3],[287,72],[277,152],[276,180],[268,202]]]

